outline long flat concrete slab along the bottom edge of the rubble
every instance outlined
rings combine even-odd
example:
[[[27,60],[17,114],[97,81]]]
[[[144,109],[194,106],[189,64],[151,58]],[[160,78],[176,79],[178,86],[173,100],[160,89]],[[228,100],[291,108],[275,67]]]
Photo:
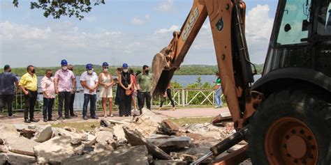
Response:
[[[148,164],[146,146],[134,146],[112,152],[98,152],[89,155],[75,156],[63,159],[63,165],[76,164]]]

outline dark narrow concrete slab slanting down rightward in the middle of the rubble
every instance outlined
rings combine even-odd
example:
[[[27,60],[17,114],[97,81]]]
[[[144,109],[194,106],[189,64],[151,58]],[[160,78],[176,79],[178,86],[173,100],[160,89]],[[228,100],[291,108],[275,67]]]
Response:
[[[132,146],[145,145],[149,154],[153,155],[157,159],[166,159],[171,160],[170,155],[165,153],[160,148],[156,147],[154,144],[149,143],[144,136],[137,129],[131,129],[127,125],[123,125],[125,137],[128,140],[128,143],[131,143]]]

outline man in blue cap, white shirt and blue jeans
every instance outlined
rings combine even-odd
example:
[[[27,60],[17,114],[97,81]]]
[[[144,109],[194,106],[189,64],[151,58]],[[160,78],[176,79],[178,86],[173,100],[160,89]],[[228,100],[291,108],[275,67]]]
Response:
[[[82,115],[84,120],[87,120],[87,105],[90,104],[91,118],[98,119],[96,117],[96,89],[98,88],[98,75],[93,70],[93,65],[88,63],[86,65],[86,71],[80,76],[80,84],[84,88],[84,104]]]

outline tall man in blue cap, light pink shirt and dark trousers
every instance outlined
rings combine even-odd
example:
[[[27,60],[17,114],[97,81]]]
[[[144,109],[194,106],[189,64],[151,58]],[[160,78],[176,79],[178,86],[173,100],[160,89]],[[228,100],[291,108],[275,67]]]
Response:
[[[54,75],[55,93],[59,95],[59,106],[57,109],[59,117],[58,120],[64,120],[62,116],[62,108],[64,106],[65,118],[73,118],[69,115],[69,104],[71,93],[75,91],[75,74],[68,70],[68,62],[61,61],[61,69],[57,70]]]

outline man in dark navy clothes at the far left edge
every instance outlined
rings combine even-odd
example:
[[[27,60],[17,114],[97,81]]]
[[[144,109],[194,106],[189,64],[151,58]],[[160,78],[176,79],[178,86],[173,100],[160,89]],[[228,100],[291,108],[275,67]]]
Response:
[[[0,112],[7,104],[8,116],[13,116],[12,102],[15,94],[15,85],[18,86],[18,79],[11,72],[9,65],[5,65],[4,72],[0,74]],[[15,84],[15,85],[14,85]]]

